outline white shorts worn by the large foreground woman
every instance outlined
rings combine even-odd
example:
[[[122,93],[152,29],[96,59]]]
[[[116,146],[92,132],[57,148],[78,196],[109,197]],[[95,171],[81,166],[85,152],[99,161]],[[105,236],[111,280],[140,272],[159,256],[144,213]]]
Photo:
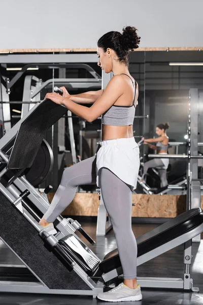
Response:
[[[100,188],[99,169],[106,167],[118,178],[137,188],[140,149],[134,137],[101,141],[96,157],[96,185]]]

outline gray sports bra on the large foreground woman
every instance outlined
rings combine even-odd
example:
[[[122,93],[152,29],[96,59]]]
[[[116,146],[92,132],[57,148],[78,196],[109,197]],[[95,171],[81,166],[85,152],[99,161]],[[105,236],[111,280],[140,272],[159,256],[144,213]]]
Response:
[[[124,73],[122,73],[124,74]],[[127,75],[127,74],[124,74]],[[129,77],[129,75],[127,75]],[[131,77],[129,77],[131,79]],[[132,81],[132,79],[131,79]],[[133,84],[133,81],[132,81]],[[134,84],[133,84],[134,86]],[[134,100],[136,99],[136,86],[134,88],[134,99],[131,106],[117,106],[113,105],[109,110],[103,113],[101,117],[101,124],[111,126],[128,126],[133,125],[134,114],[136,113],[136,106]]]

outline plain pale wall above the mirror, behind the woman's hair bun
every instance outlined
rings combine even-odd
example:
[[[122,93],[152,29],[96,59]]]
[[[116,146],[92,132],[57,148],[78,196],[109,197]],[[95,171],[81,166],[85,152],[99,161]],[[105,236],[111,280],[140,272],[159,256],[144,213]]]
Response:
[[[133,25],[141,47],[203,47],[202,0],[0,0],[0,49],[95,48]]]

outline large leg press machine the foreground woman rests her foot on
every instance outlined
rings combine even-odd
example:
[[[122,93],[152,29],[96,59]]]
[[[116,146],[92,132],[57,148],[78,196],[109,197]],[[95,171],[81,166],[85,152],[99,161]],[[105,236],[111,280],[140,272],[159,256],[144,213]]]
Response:
[[[118,281],[116,278],[118,273],[115,273],[112,263],[114,261],[112,254],[112,260],[107,262],[105,259],[105,264],[101,264],[98,257],[76,235],[79,231],[88,242],[94,243],[77,221],[59,216],[54,223],[57,234],[53,236],[44,231],[38,221],[46,212],[49,203],[22,175],[26,168],[32,166],[47,130],[66,111],[65,107],[50,100],[44,100],[33,107],[0,139],[0,156],[5,161],[0,169],[0,237],[24,266],[10,265],[4,269],[5,273],[0,281],[1,292],[96,296],[98,292],[104,290],[105,285],[109,288],[110,284],[116,285]],[[33,138],[35,141],[32,141]],[[13,139],[15,143],[8,157],[4,148]],[[26,143],[23,146],[24,149],[22,149],[23,143]],[[8,171],[13,173],[9,179]],[[170,239],[166,239],[164,233],[166,229]],[[143,239],[142,246],[145,249],[140,253],[140,263],[183,242],[185,242],[186,260],[183,280],[138,278],[138,282],[140,281],[143,287],[194,291],[192,279],[190,279],[191,238],[202,231],[203,212],[200,208],[196,208],[140,237],[140,240]],[[115,255],[117,257],[116,253]],[[106,269],[107,266],[108,269]],[[13,268],[15,271],[19,270],[15,281],[11,281]],[[6,269],[9,275],[6,275]],[[118,269],[120,270],[120,266]],[[24,276],[19,277],[21,271]],[[120,272],[121,270],[119,274]],[[111,278],[111,282],[108,282],[107,278]]]

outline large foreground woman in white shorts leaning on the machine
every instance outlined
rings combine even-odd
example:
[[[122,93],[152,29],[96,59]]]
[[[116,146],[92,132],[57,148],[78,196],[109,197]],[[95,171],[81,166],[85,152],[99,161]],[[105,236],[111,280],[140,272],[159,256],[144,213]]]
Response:
[[[69,205],[79,185],[97,184],[111,219],[123,268],[124,283],[109,292],[99,293],[106,301],[141,300],[137,284],[137,242],[131,229],[131,190],[136,189],[140,166],[139,147],[133,137],[133,119],[138,99],[138,84],[128,71],[127,55],[138,48],[140,37],[135,27],[123,33],[109,32],[97,42],[98,66],[113,72],[105,90],[70,96],[62,87],[63,97],[48,93],[47,99],[65,106],[91,122],[103,115],[102,141],[97,156],[66,168],[52,203],[40,221],[50,233],[53,222]],[[91,107],[77,103],[93,103]]]

